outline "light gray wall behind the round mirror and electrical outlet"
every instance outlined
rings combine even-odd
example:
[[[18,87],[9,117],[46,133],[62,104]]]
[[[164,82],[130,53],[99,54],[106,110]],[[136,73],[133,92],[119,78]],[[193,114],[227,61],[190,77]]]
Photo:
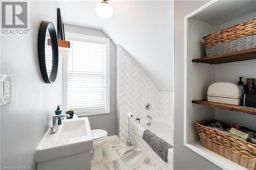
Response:
[[[48,20],[57,29],[57,4],[31,1],[30,5],[30,35],[1,37],[1,74],[13,76],[12,103],[1,106],[1,165],[36,169],[35,149],[62,103],[62,57],[56,82],[44,83],[37,56],[38,27]]]

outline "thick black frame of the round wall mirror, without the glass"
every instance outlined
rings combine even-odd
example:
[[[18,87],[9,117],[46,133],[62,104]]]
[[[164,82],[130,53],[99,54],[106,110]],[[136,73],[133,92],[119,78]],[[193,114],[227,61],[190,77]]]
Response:
[[[45,56],[45,44],[46,44],[46,32],[47,29],[49,31],[50,37],[51,37],[51,45],[52,45],[52,69],[50,77],[48,77],[47,69],[46,69],[46,56]],[[42,21],[39,26],[38,31],[38,60],[39,60],[39,66],[40,71],[42,75],[42,79],[46,83],[54,83],[57,77],[58,73],[58,39],[55,31],[55,27],[52,22],[50,21]]]

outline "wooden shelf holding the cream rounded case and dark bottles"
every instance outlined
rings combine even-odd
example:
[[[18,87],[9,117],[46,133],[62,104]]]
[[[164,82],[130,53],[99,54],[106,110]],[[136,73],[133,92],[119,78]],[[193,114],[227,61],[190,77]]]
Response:
[[[230,104],[223,104],[223,103],[216,103],[216,102],[208,102],[207,100],[192,101],[192,103],[256,115],[256,109],[248,108],[248,107],[244,107],[244,106],[237,106],[237,105],[230,105]]]

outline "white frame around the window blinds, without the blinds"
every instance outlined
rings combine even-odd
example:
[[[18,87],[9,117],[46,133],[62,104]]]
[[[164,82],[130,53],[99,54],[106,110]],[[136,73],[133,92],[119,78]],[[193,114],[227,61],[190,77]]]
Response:
[[[75,113],[78,116],[88,116],[96,114],[110,113],[110,38],[97,37],[85,34],[77,34],[66,32],[67,41],[92,41],[106,44],[106,110],[87,111]],[[63,95],[63,110],[68,110],[68,56],[63,56],[63,75],[62,75],[62,95]]]

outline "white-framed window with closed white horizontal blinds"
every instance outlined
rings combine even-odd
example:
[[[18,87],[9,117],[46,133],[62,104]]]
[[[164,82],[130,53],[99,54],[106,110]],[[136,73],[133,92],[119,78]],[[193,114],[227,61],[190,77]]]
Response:
[[[67,33],[63,56],[63,104],[78,115],[110,113],[110,39]]]

